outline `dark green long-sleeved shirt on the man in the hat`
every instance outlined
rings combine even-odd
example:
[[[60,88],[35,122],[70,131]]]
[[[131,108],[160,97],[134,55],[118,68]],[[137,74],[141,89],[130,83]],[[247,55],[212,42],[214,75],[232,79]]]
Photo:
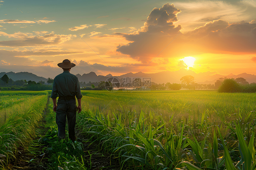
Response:
[[[51,98],[71,96],[82,98],[78,78],[69,71],[63,71],[54,78]]]

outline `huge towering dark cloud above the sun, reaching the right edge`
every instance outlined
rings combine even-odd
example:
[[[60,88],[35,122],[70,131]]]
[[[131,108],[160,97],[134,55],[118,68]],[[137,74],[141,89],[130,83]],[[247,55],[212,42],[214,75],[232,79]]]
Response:
[[[181,33],[182,27],[173,24],[178,21],[179,12],[169,3],[162,8],[154,8],[139,31],[133,34],[114,33],[130,41],[126,45],[119,45],[116,51],[143,63],[148,63],[156,56],[172,58],[203,53],[256,53],[254,20],[250,23],[213,20],[193,31]]]

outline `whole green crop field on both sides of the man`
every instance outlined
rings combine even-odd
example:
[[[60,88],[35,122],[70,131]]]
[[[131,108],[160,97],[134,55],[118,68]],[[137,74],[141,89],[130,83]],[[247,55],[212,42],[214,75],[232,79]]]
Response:
[[[58,140],[49,93],[0,93],[0,154],[7,157],[0,157],[0,167],[18,167],[21,146],[34,154],[25,161],[28,168],[256,167],[255,93],[82,91],[76,143]],[[43,129],[39,139],[38,128]],[[92,151],[89,143],[98,147]],[[108,155],[110,163],[95,167],[93,154]]]

